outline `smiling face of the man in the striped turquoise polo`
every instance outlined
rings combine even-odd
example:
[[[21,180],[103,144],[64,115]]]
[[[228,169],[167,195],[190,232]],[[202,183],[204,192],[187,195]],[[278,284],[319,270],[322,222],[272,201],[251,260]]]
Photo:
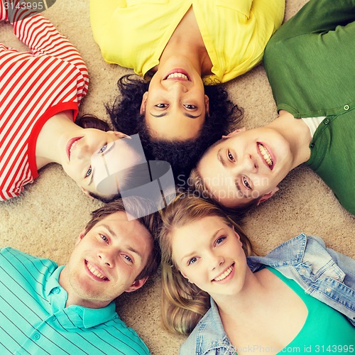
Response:
[[[136,280],[153,249],[153,239],[125,212],[105,217],[87,234],[80,234],[70,261],[60,274],[68,300],[84,307],[105,307],[121,293],[140,288]]]

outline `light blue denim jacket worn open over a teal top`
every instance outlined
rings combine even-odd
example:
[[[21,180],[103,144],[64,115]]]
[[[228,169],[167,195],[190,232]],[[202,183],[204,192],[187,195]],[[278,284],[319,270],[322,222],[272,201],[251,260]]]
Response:
[[[266,256],[249,256],[247,262],[253,272],[265,266],[277,269],[305,293],[346,315],[355,326],[355,261],[327,249],[320,237],[300,234]],[[211,308],[182,344],[180,355],[235,353],[211,299]]]

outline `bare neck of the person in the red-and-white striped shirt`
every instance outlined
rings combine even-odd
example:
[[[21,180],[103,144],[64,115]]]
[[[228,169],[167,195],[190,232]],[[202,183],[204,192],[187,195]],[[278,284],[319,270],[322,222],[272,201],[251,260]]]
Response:
[[[72,129],[80,129],[72,120],[72,111],[62,111],[45,122],[35,145],[38,169],[49,163],[61,163],[60,151],[65,150],[62,136]]]

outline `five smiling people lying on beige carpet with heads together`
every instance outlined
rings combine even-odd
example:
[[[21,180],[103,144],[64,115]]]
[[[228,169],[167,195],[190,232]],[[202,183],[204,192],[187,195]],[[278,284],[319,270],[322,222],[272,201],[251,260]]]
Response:
[[[283,23],[282,0],[90,0],[104,60],[136,73],[119,79],[109,124],[77,117],[87,67],[22,4],[0,1],[29,48],[0,44],[1,204],[49,163],[103,203],[65,266],[0,249],[0,353],[149,354],[115,300],[159,267],[181,355],[353,352],[355,261],[304,233],[258,256],[241,223],[302,163],[355,214],[355,1],[310,0]],[[261,60],[278,118],[229,131],[241,109],[224,83]],[[147,160],[185,182],[158,210],[124,194]]]

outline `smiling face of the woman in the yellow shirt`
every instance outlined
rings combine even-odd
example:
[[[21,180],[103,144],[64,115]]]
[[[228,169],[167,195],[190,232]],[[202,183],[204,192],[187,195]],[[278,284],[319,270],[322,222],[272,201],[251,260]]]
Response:
[[[207,111],[202,78],[181,58],[159,66],[141,105],[151,136],[173,141],[197,138]]]

